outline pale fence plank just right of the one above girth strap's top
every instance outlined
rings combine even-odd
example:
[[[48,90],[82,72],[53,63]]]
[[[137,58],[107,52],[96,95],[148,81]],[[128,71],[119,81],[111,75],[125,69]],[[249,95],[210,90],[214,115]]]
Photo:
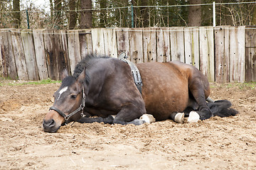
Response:
[[[142,28],[130,28],[129,30],[129,43],[131,61],[134,63],[144,62],[143,58],[143,39]]]

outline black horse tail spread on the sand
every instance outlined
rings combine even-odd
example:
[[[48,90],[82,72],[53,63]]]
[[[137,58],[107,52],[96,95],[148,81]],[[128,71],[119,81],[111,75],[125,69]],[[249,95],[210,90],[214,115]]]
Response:
[[[210,108],[210,111],[213,113],[213,116],[218,115],[221,118],[238,114],[238,111],[236,111],[233,108],[230,108],[231,105],[232,104],[228,100],[220,100],[207,103],[207,106]]]

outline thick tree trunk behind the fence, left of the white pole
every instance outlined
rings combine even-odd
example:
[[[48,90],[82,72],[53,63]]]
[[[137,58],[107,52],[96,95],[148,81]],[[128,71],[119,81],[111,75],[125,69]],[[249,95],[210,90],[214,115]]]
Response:
[[[189,4],[201,4],[201,0],[189,0]],[[188,26],[201,26],[201,6],[188,7]]]

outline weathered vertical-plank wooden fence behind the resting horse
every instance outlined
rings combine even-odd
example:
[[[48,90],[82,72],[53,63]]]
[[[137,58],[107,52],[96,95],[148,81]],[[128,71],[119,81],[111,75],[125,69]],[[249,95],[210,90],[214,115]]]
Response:
[[[256,81],[256,29],[252,27],[0,29],[0,76],[60,79],[88,53],[129,60],[193,64],[209,81]],[[157,72],[157,70],[156,70]]]

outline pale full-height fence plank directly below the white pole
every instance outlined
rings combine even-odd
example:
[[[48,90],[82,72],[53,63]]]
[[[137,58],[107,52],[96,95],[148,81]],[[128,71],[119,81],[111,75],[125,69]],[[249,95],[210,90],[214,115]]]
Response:
[[[229,82],[229,29],[219,26],[215,28],[215,81]]]

